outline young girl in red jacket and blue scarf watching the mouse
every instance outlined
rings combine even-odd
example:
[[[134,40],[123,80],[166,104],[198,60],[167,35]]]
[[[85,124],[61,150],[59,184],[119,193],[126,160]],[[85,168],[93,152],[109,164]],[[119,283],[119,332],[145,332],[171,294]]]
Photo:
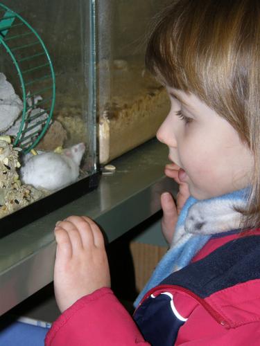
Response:
[[[59,222],[62,315],[46,345],[259,345],[259,18],[259,0],[175,0],[159,17],[146,65],[171,99],[157,132],[180,183],[177,208],[162,195],[171,247],[132,319],[110,289],[98,226]]]

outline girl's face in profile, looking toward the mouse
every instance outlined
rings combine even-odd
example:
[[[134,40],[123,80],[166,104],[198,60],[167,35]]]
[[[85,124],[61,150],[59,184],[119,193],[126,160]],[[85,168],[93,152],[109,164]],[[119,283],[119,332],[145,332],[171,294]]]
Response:
[[[250,184],[252,154],[239,134],[191,93],[167,87],[171,110],[157,131],[191,196],[209,199]]]

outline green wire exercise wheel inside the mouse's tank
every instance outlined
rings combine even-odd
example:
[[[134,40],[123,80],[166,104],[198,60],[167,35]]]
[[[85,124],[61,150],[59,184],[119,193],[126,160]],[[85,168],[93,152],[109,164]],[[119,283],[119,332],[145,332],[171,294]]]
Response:
[[[0,3],[0,46],[10,55],[15,65],[14,70],[19,76],[19,94],[23,101],[23,109],[14,146],[20,147],[24,153],[27,153],[44,136],[53,116],[55,105],[53,64],[37,32],[20,15],[2,3]]]

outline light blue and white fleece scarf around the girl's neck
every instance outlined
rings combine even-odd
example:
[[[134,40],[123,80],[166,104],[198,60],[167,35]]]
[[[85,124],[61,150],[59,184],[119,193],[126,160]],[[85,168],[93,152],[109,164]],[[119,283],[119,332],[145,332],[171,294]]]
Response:
[[[178,217],[171,247],[139,293],[135,307],[165,277],[187,266],[212,235],[240,228],[241,214],[234,207],[245,207],[248,193],[246,188],[211,199],[187,199]]]

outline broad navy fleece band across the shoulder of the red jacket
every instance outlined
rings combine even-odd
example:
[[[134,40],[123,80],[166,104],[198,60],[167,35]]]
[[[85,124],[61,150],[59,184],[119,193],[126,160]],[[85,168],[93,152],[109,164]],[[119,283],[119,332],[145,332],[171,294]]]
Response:
[[[260,237],[249,235],[234,239],[202,260],[172,273],[162,284],[181,286],[206,298],[227,287],[259,278]]]

